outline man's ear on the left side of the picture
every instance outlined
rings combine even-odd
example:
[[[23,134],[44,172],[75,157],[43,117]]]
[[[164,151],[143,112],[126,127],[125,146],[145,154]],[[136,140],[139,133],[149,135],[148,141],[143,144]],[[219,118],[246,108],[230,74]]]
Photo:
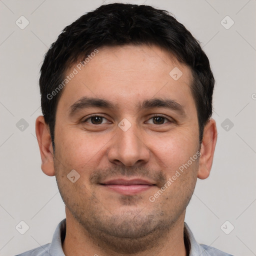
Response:
[[[42,115],[35,121],[35,134],[41,154],[41,169],[48,176],[54,176],[53,148],[49,132],[49,127],[44,121]]]

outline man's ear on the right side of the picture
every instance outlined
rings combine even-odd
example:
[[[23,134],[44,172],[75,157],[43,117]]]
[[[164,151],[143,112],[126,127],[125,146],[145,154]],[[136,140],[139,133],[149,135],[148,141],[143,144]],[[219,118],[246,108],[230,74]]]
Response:
[[[213,119],[209,119],[203,129],[203,137],[200,150],[201,155],[199,158],[199,169],[197,173],[197,177],[200,179],[207,178],[210,174],[216,141],[216,122]]]

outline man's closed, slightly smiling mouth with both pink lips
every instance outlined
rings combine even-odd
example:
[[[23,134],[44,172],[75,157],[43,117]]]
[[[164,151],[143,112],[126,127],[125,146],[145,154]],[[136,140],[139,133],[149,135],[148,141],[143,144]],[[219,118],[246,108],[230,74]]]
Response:
[[[156,184],[144,179],[111,179],[100,185],[121,194],[132,195],[150,189]]]

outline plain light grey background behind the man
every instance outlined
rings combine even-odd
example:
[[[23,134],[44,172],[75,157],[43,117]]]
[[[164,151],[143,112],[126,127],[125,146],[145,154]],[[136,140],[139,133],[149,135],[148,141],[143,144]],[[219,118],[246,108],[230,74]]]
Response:
[[[39,68],[60,31],[104,2],[0,0],[0,255],[50,242],[65,217],[55,177],[40,169],[34,131],[41,114]],[[208,55],[216,79],[213,117],[218,140],[211,174],[198,180],[186,222],[200,243],[234,255],[256,255],[256,1],[123,2],[170,11]],[[21,15],[29,21],[24,29],[15,23],[25,24]],[[227,15],[231,19],[224,18]],[[21,220],[29,226],[23,235],[15,229]]]

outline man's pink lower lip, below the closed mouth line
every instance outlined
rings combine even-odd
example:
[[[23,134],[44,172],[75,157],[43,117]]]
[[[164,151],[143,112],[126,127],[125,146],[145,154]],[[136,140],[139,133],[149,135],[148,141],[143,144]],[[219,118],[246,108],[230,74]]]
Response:
[[[117,184],[104,184],[105,187],[110,188],[121,194],[136,194],[145,191],[154,185],[117,185]]]

